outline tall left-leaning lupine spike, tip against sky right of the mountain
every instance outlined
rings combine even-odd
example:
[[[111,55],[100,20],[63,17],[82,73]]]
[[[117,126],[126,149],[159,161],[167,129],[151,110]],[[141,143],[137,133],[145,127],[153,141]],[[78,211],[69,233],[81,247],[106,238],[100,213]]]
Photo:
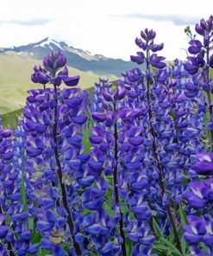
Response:
[[[138,124],[149,135],[143,138],[141,151],[144,152],[141,159],[154,170],[152,176],[151,171],[147,170],[146,175],[150,184],[148,190],[152,193],[144,193],[144,200],[148,199],[151,207],[158,209],[159,216],[165,218],[167,214],[172,223],[176,246],[181,252],[179,235],[175,227],[178,220],[173,219],[171,208],[173,202],[179,203],[183,200],[184,181],[187,178],[185,171],[191,171],[191,155],[194,156],[202,149],[199,138],[202,136],[201,122],[204,121],[204,112],[200,106],[204,106],[204,95],[201,93],[197,77],[189,79],[189,74],[181,62],[175,60],[173,67],[166,67],[163,62],[165,58],[155,54],[155,49],[160,50],[163,45],[155,46],[146,34],[141,32],[143,40],[135,40],[143,52],[137,53],[136,57],[131,56],[132,61],[146,63],[146,71],[141,74],[139,82],[135,76],[135,84],[140,88],[140,93],[129,94],[135,98],[135,102],[132,97],[130,98],[131,105],[134,102],[134,106],[140,106],[141,103],[144,118],[139,118]],[[202,57],[200,55],[199,58]],[[202,61],[198,63],[202,65]],[[151,67],[158,68],[158,71],[154,73]],[[121,84],[130,91],[132,74],[124,74],[124,79]],[[195,106],[197,112],[192,111]],[[128,145],[125,144],[125,148],[128,149],[129,155]],[[131,155],[127,157],[129,160],[131,158]],[[140,161],[135,161],[128,165],[128,169],[139,166]],[[142,183],[138,188],[143,188]],[[164,220],[160,219],[160,223],[164,223]]]

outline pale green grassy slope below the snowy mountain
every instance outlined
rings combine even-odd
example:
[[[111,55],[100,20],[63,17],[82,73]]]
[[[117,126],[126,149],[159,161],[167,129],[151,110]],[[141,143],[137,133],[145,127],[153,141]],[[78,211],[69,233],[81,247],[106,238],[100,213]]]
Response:
[[[39,84],[31,82],[34,65],[41,65],[42,61],[35,61],[30,57],[8,53],[0,54],[0,112],[13,112],[25,104],[27,91],[40,88]],[[98,81],[97,74],[82,72],[68,67],[69,74],[80,75],[79,86],[87,89]]]

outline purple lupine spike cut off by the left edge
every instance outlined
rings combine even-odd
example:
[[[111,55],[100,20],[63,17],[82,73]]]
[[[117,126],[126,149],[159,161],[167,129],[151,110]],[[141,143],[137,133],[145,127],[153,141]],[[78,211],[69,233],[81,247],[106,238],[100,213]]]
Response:
[[[25,255],[26,253],[37,253],[40,245],[32,244],[32,230],[28,227],[27,205],[22,201],[27,184],[27,177],[24,172],[24,150],[25,136],[22,125],[18,126],[14,135],[16,138],[9,138],[11,131],[3,131],[3,137],[0,147],[1,156],[1,189],[3,189],[3,198],[1,200],[1,239],[7,243],[9,255]],[[3,147],[2,147],[3,146]],[[25,177],[25,182],[23,180]],[[22,195],[22,196],[21,196]],[[26,198],[27,200],[27,198]],[[6,225],[5,214],[9,216],[10,225]]]

